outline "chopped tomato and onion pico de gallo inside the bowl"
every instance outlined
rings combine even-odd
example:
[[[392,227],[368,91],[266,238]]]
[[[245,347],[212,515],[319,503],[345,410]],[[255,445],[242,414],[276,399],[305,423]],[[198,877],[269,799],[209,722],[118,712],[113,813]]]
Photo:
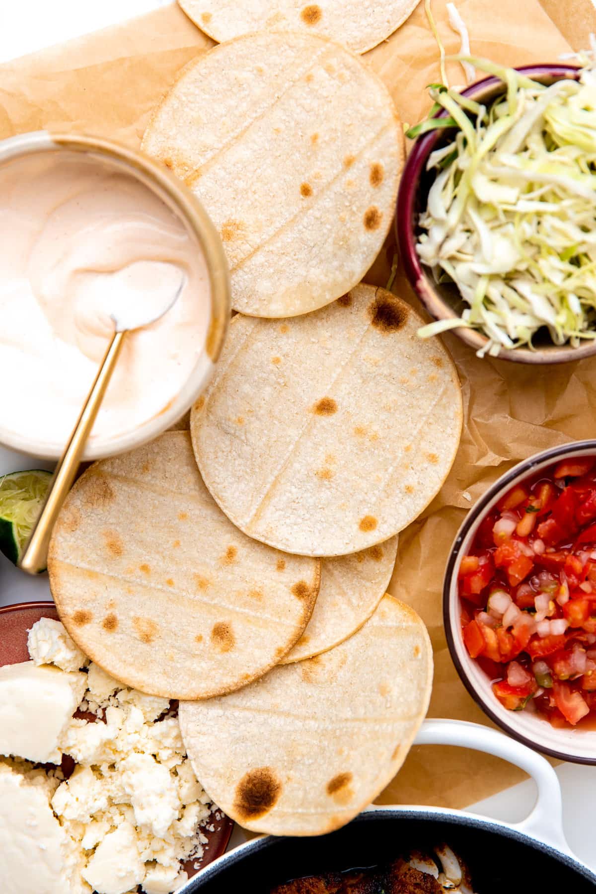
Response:
[[[515,485],[460,563],[468,653],[510,711],[596,718],[596,457]]]

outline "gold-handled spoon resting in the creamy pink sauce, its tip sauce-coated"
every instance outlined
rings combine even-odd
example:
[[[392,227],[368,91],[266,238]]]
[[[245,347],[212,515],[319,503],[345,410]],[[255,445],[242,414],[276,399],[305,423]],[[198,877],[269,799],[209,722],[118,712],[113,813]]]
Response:
[[[91,385],[87,401],[85,401],[83,409],[80,411],[77,424],[72,430],[62,457],[58,460],[58,465],[55,468],[54,476],[50,481],[49,490],[46,494],[46,500],[21,554],[18,564],[23,571],[27,571],[29,574],[38,574],[39,571],[46,569],[47,549],[55,520],[77,474],[77,469],[80,466],[80,457],[85,449],[85,444],[97,417],[97,411],[104,400],[105,391],[108,384],[110,384],[113,370],[120,356],[124,336],[127,332],[131,332],[134,329],[141,329],[143,326],[155,323],[167,314],[180,298],[180,292],[185,282],[185,274],[180,273],[178,288],[173,295],[168,296],[167,304],[162,304],[161,307],[157,308],[155,304],[149,304],[151,316],[147,316],[147,306],[143,308],[142,305],[140,308],[133,308],[132,312],[130,308],[126,308],[124,313],[122,313],[121,309],[120,312],[115,311],[109,315],[114,325],[113,336],[107,346],[95,381]],[[145,310],[145,316],[142,316],[143,310]]]

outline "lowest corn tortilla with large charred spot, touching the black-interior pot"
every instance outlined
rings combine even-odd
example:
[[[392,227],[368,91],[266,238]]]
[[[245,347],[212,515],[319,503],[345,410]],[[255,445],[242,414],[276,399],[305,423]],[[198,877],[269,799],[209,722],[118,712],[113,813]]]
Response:
[[[428,708],[432,647],[385,596],[344,643],[237,693],[180,704],[197,779],[232,819],[273,835],[339,829],[404,762]]]

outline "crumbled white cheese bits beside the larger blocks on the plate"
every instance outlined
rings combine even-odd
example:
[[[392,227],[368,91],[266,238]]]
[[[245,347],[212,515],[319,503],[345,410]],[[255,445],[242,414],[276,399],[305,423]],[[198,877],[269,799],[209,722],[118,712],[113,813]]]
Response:
[[[188,878],[180,860],[203,853],[199,825],[205,828],[212,805],[178,720],[168,716],[169,701],[123,687],[88,662],[58,621],[38,621],[28,645],[36,665],[87,668],[80,710],[99,718],[71,718],[63,729],[58,750],[77,764],[68,780],[59,767],[46,772],[18,757],[0,758],[0,780],[12,773],[16,786],[38,789],[33,794],[49,800],[62,827],[63,886],[51,890],[128,894],[141,885],[146,894],[170,894]]]

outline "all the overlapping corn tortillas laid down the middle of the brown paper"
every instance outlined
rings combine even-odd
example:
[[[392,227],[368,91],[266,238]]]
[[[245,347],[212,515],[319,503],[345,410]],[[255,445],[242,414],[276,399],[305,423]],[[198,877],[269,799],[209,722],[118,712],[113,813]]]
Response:
[[[189,423],[74,486],[50,584],[94,662],[181,700],[222,809],[315,835],[397,772],[432,683],[424,624],[384,594],[455,458],[461,394],[414,310],[361,283],[403,137],[382,83],[322,36],[364,51],[415,3],[183,5],[217,38],[264,29],[190,63],[143,140],[212,216],[239,314]]]

